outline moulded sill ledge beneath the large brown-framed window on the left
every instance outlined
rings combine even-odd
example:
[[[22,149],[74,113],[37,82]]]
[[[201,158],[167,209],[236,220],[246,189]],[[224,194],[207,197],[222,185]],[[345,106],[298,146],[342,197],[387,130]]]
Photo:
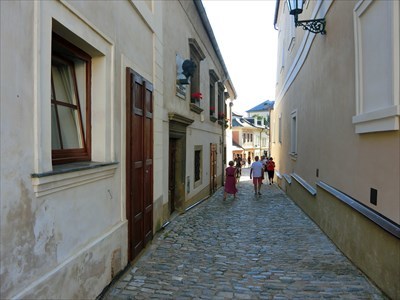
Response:
[[[36,197],[114,176],[118,163],[79,162],[53,167],[53,171],[31,175]]]

